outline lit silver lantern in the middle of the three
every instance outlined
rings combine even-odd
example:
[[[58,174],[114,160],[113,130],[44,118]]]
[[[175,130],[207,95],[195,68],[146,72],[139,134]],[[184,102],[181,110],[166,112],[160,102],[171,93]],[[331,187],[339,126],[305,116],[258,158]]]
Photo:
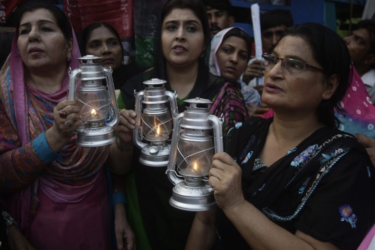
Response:
[[[165,167],[170,152],[169,141],[173,117],[178,113],[177,94],[167,91],[160,79],[146,82],[145,90],[134,92],[136,125],[134,144],[142,148],[140,163],[150,167]],[[168,104],[170,108],[168,107]]]

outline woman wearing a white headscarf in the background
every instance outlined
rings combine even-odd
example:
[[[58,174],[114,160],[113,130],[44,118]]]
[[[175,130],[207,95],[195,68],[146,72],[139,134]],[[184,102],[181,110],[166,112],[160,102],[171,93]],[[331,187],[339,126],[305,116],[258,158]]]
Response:
[[[261,102],[258,91],[241,81],[250,52],[250,37],[244,30],[238,27],[223,29],[211,41],[209,72],[241,83],[241,92],[251,116]]]

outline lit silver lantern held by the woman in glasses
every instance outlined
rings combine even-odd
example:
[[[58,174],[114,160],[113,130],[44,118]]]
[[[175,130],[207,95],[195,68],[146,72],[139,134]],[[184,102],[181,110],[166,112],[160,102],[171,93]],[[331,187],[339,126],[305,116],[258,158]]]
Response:
[[[167,174],[175,187],[169,203],[182,210],[204,211],[216,206],[208,171],[214,153],[223,152],[223,121],[209,113],[209,100],[185,102],[187,109],[174,119]]]

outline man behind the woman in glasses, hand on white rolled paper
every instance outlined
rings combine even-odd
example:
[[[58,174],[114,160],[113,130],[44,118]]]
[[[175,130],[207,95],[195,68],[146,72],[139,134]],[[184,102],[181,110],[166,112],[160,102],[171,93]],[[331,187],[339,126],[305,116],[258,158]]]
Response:
[[[263,51],[271,53],[274,46],[280,41],[284,32],[292,25],[292,13],[289,10],[276,9],[264,13],[260,17]],[[264,68],[260,65],[260,60],[255,60],[246,68],[243,81],[249,83],[255,77],[262,77],[264,76],[263,71]],[[250,84],[254,85],[253,83]]]

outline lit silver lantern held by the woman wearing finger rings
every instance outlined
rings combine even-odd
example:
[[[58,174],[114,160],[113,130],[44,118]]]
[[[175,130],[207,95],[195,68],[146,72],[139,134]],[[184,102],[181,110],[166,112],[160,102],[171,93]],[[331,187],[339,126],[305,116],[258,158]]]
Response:
[[[78,146],[104,146],[116,142],[113,127],[119,122],[119,110],[112,69],[102,67],[101,59],[87,55],[78,59],[79,68],[69,69],[68,99],[78,100],[83,124],[75,131]],[[102,83],[104,79],[106,87]],[[81,81],[78,89],[77,81]]]

